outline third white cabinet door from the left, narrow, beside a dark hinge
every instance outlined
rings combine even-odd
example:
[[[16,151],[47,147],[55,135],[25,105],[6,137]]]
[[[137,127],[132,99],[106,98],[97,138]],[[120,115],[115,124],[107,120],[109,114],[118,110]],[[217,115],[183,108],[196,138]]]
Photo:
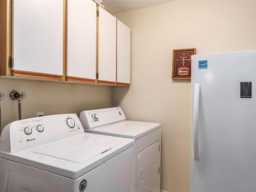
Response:
[[[116,18],[99,7],[99,82],[116,82]]]

